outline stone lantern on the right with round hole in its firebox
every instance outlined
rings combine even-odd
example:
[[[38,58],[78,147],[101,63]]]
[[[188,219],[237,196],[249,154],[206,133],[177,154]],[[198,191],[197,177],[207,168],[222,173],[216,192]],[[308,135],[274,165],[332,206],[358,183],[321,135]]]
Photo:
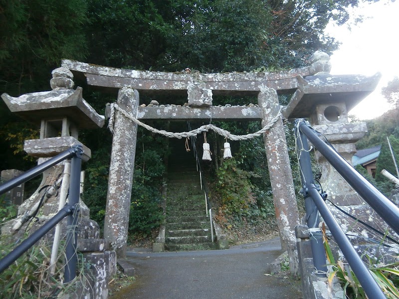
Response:
[[[284,108],[285,118],[308,118],[311,126],[321,133],[334,149],[349,163],[356,152],[355,143],[367,133],[364,122],[350,122],[348,111],[376,88],[381,74],[331,75],[321,71],[314,75],[298,76],[298,89]],[[320,183],[328,199],[341,209],[372,226],[387,227],[378,215],[366,204],[331,164],[316,151],[320,166]],[[364,228],[357,227],[355,220],[332,206],[331,211],[347,233],[367,235]],[[371,234],[367,235],[372,237]]]

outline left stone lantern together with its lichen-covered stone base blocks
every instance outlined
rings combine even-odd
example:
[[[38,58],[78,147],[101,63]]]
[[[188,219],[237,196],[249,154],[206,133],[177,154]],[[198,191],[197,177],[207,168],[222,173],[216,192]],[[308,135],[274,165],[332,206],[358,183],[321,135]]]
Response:
[[[29,155],[37,157],[39,164],[74,145],[82,146],[84,151],[82,159],[87,161],[91,151],[78,141],[79,130],[101,128],[105,117],[97,114],[83,99],[80,87],[72,89],[73,75],[67,68],[60,67],[53,70],[52,76],[51,91],[24,94],[16,98],[2,94],[1,98],[11,112],[33,125],[40,126],[40,138],[26,140],[24,143],[24,150]],[[61,193],[58,191],[64,165],[65,161],[43,172],[43,179],[37,190],[19,206],[18,218],[1,227],[2,236],[19,238],[23,235],[26,223],[23,224],[21,219],[27,220],[29,211],[34,209],[40,200],[45,201],[41,208],[41,216],[33,223],[30,232],[35,231],[58,211]],[[86,276],[87,283],[77,284],[73,294],[79,298],[107,298],[108,283],[116,274],[116,253],[109,250],[107,241],[98,239],[99,226],[90,220],[90,211],[82,200],[79,203],[79,213],[79,223],[76,228],[77,251],[83,254],[88,267],[82,274]],[[18,225],[18,221],[21,225]],[[63,236],[70,228],[66,226],[66,219],[61,223],[63,223],[61,225],[61,236]],[[50,230],[45,238],[52,241],[53,234],[54,229]]]

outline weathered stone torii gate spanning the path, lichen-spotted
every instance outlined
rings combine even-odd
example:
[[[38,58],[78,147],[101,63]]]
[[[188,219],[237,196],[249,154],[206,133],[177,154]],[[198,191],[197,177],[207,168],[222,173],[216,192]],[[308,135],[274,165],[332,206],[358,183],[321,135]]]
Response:
[[[312,119],[317,121],[317,115],[323,114],[324,110],[320,112],[321,108],[317,111],[316,108],[326,104],[330,107],[334,102],[341,105],[337,104],[340,107],[338,112],[345,114],[373,91],[379,80],[378,76],[330,75],[329,56],[323,52],[313,54],[310,62],[308,67],[275,73],[221,74],[137,71],[72,60],[63,60],[62,66],[75,75],[83,73],[89,85],[119,89],[118,106],[141,121],[260,120],[262,127],[279,111],[282,111],[285,118],[309,117],[314,114]],[[140,106],[139,93],[159,94],[160,91],[167,91],[168,94],[187,93],[188,105],[171,103],[166,106]],[[278,93],[294,93],[288,106],[280,106]],[[212,106],[212,95],[257,96],[258,103],[245,107]],[[317,124],[322,125],[323,122],[318,121]],[[114,128],[104,237],[111,242],[118,256],[124,257],[137,125],[121,113],[116,113]],[[353,130],[358,130],[356,128]],[[282,248],[289,250],[290,260],[295,263],[294,228],[299,219],[282,118],[264,134],[264,142]]]

